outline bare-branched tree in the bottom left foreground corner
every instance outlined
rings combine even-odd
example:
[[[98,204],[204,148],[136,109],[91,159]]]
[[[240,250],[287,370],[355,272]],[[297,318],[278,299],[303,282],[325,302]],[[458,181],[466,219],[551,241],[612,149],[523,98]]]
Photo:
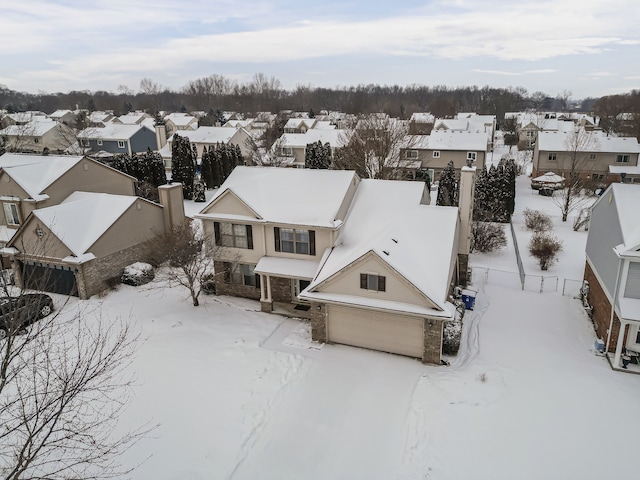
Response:
[[[139,334],[99,309],[73,314],[57,305],[50,314],[44,303],[26,306],[41,300],[3,290],[0,477],[123,478],[131,468],[119,456],[149,431],[114,434],[131,394]],[[29,319],[37,321],[27,327]]]

